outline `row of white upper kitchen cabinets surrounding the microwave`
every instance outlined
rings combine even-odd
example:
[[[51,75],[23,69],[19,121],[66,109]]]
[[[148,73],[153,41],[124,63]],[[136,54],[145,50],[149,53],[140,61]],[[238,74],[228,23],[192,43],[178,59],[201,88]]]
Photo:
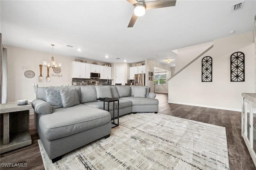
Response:
[[[90,79],[90,73],[100,73],[100,79],[111,79],[111,67],[72,61],[72,78]]]

